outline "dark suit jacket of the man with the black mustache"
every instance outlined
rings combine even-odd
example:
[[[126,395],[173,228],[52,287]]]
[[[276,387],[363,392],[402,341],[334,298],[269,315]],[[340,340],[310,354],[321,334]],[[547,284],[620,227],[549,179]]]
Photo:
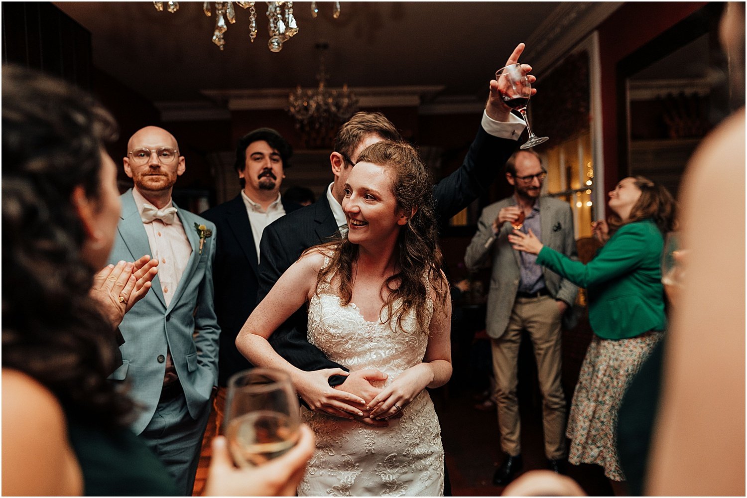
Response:
[[[286,214],[301,207],[285,199],[282,205]],[[236,336],[257,303],[257,249],[241,193],[201,216],[217,228],[213,287],[220,325],[218,383],[225,386],[234,373],[252,367],[236,349]]]

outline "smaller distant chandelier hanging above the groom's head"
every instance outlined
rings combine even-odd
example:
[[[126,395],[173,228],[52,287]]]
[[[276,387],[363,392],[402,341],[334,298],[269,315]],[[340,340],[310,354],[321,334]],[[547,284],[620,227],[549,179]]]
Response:
[[[358,99],[344,84],[342,90],[326,87],[329,77],[324,70],[324,52],[328,43],[317,43],[319,51],[319,84],[315,90],[302,90],[301,85],[288,95],[286,111],[296,120],[296,129],[301,132],[309,149],[331,146],[337,128],[358,111]]]

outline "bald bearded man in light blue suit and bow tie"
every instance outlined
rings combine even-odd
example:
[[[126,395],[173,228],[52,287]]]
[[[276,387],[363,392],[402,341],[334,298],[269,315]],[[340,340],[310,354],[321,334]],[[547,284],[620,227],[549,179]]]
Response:
[[[185,158],[168,131],[148,126],[128,142],[124,167],[134,188],[109,261],[158,258],[152,290],[120,324],[123,364],[110,379],[126,382],[140,405],[131,429],[191,496],[202,433],[217,380],[218,327],[213,307],[215,226],[171,200]]]

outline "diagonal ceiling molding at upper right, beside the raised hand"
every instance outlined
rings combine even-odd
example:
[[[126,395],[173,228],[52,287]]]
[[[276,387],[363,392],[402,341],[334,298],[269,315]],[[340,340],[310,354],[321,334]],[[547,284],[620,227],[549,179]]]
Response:
[[[527,39],[521,60],[534,72],[549,69],[604,22],[624,1],[564,1]]]

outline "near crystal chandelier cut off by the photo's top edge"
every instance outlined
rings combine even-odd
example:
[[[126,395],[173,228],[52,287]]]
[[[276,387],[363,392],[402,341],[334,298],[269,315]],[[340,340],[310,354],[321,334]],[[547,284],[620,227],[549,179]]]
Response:
[[[179,10],[178,1],[167,1],[167,10],[171,13]],[[202,11],[205,16],[212,16],[211,5],[214,5],[215,10],[215,32],[213,33],[213,43],[215,43],[219,49],[223,50],[223,46],[226,45],[226,40],[223,39],[223,33],[226,32],[229,24],[236,22],[236,11],[233,4],[237,4],[241,8],[249,9],[249,40],[257,37],[257,10],[255,10],[254,1],[203,1]],[[298,26],[296,25],[296,18],[293,16],[293,2],[292,1],[266,1],[267,4],[267,19],[269,24],[267,25],[267,31],[270,32],[270,40],[267,42],[267,47],[270,52],[280,52],[282,50],[282,44],[288,41],[289,38],[293,37],[294,34],[298,33]],[[153,5],[155,10],[164,10],[163,1],[154,1]],[[311,2],[311,16],[316,17],[319,13],[317,9],[317,2]],[[340,16],[340,2],[335,1],[335,7],[332,10],[332,17],[337,19]]]

